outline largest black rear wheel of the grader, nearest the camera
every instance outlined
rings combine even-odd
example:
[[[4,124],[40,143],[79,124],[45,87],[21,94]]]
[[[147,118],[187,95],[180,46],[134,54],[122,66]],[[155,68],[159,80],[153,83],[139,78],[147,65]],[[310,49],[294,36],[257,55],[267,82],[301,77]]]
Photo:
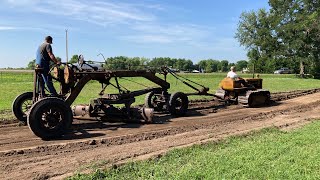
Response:
[[[65,134],[72,118],[71,108],[62,99],[50,97],[31,107],[27,122],[36,136],[49,140]]]

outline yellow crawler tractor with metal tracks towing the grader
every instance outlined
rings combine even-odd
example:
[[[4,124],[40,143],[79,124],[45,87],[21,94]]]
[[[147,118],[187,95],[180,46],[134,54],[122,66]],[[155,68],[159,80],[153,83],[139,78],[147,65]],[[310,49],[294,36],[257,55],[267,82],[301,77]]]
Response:
[[[215,95],[227,103],[243,104],[247,107],[257,107],[270,103],[270,92],[262,89],[261,78],[244,78],[244,82],[224,78]]]

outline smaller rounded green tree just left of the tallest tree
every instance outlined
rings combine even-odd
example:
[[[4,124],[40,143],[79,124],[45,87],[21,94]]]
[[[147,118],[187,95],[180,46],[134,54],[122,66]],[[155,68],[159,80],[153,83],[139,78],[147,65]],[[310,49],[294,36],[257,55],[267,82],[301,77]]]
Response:
[[[265,9],[244,12],[240,16],[236,38],[246,47],[251,64],[255,64],[259,72],[265,72],[265,61],[275,58],[280,49],[273,24],[274,19]]]

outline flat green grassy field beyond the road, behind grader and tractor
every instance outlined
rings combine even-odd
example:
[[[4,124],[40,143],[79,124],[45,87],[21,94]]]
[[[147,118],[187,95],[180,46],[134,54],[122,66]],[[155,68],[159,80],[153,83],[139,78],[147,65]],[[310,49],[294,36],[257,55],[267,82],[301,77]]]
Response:
[[[180,74],[199,84],[203,84],[210,88],[210,92],[214,93],[218,88],[218,84],[226,75],[226,73],[211,74]],[[251,74],[240,74],[242,77],[252,77]],[[265,89],[271,92],[290,91],[295,89],[312,89],[320,88],[320,81],[315,79],[300,79],[295,75],[273,75],[262,74]],[[135,82],[132,82],[135,81]],[[176,80],[173,76],[168,76],[168,82],[171,84],[170,92],[194,92],[191,88]],[[125,78],[120,79],[120,84],[129,90],[144,89],[146,86],[154,86],[152,82],[144,78]],[[55,84],[59,89],[58,83]],[[33,73],[23,72],[0,72],[0,119],[13,118],[11,105],[16,96],[23,92],[32,91],[33,89]],[[80,93],[74,104],[88,104],[91,98],[99,97],[98,93],[101,85],[96,81],[89,82]],[[116,89],[107,88],[106,93],[116,93]],[[190,99],[204,98],[199,96],[190,97]],[[210,97],[207,97],[210,98]],[[143,104],[144,96],[136,98],[135,104]]]

